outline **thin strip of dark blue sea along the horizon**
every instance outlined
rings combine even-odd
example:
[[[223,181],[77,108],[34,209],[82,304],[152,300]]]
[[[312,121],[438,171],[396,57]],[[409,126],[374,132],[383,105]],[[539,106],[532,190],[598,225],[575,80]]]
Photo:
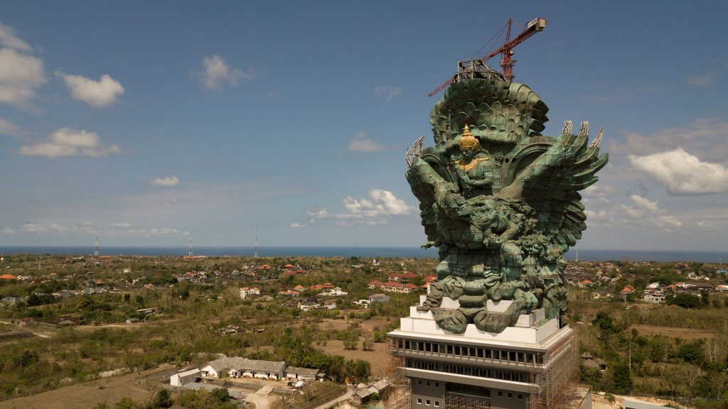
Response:
[[[253,247],[195,247],[194,255],[253,256]],[[101,247],[100,255],[167,255],[188,254],[186,247]],[[92,247],[0,246],[0,254],[92,255]],[[419,247],[259,247],[260,257],[361,257],[361,258],[438,258],[434,248]],[[573,261],[574,249],[566,253]],[[579,261],[687,261],[698,263],[728,262],[726,251],[656,251],[656,250],[590,250],[579,249]]]

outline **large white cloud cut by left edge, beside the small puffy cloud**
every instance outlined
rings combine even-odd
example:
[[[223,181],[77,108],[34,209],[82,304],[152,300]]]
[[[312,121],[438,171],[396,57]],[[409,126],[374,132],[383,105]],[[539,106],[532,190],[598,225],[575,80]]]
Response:
[[[0,103],[32,109],[36,88],[45,81],[43,60],[12,48],[0,49]]]

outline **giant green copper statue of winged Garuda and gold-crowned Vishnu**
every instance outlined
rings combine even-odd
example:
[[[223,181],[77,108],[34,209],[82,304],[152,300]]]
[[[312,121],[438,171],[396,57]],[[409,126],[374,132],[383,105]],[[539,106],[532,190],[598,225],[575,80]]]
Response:
[[[595,183],[608,155],[602,130],[588,143],[566,121],[560,136],[541,135],[545,103],[524,84],[502,79],[454,82],[430,113],[435,146],[419,138],[405,154],[428,242],[438,248],[438,281],[420,311],[463,333],[468,324],[499,333],[521,314],[566,311],[564,253],[586,229],[578,191]],[[459,308],[443,308],[443,297]],[[505,312],[488,300],[511,301]]]

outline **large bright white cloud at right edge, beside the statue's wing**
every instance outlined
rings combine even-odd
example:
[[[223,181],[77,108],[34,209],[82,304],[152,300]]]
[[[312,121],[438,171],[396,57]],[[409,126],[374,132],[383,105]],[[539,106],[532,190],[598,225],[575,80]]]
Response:
[[[646,156],[629,155],[630,163],[651,175],[670,194],[719,194],[728,192],[728,169],[701,162],[683,148]]]

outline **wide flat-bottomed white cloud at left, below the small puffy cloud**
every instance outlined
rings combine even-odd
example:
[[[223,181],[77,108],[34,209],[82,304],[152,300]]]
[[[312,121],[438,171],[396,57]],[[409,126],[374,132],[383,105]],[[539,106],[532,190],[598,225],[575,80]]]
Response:
[[[98,158],[108,154],[119,154],[121,151],[121,148],[116,145],[104,146],[94,132],[61,128],[50,134],[46,141],[35,145],[22,146],[17,153],[55,159],[62,156]]]

